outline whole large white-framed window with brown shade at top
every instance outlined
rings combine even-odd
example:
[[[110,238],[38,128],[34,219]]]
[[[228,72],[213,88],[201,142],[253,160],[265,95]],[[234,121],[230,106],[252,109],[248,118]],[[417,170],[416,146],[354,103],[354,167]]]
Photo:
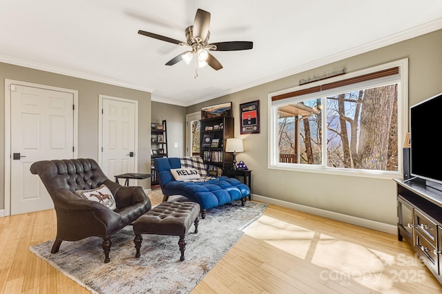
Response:
[[[403,60],[270,94],[269,167],[400,174],[406,70]]]

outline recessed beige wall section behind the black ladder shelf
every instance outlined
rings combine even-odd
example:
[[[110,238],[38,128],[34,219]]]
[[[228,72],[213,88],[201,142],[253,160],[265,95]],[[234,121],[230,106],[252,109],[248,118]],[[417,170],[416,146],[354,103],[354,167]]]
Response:
[[[166,120],[169,157],[186,154],[186,107],[152,101],[152,123]],[[173,147],[174,143],[178,147]]]

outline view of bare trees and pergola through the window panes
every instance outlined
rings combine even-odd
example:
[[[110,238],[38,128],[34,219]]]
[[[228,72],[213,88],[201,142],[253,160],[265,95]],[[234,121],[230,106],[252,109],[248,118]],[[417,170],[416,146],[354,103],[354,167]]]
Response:
[[[327,167],[397,171],[397,99],[392,84],[278,106],[279,162],[323,165],[326,148]]]

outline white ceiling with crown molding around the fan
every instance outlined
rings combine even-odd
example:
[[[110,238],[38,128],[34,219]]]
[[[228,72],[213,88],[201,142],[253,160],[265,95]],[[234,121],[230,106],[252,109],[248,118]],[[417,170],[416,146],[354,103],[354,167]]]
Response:
[[[253,49],[211,52],[224,68],[194,78],[192,65],[164,65],[187,48],[137,31],[186,41],[198,8],[211,12],[209,43]],[[439,30],[442,1],[1,0],[0,28],[1,62],[188,106]]]

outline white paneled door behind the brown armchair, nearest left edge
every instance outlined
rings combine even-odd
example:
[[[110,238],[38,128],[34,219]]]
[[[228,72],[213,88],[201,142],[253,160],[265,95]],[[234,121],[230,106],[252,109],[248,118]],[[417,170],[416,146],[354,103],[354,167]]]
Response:
[[[74,156],[74,95],[11,85],[11,214],[54,207],[30,165]]]

